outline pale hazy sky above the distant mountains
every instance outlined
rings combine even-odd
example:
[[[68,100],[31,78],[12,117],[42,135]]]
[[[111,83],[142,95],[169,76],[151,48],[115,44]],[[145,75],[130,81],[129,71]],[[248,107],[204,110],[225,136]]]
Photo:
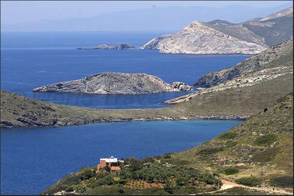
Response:
[[[125,10],[154,7],[223,7],[231,4],[275,7],[292,0],[1,0],[1,23],[42,19],[88,18]]]

